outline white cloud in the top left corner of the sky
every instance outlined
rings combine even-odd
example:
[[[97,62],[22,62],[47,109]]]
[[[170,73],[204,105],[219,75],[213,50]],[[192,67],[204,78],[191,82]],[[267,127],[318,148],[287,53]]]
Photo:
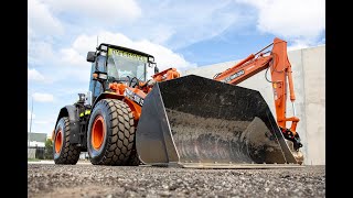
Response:
[[[52,13],[47,10],[47,6],[40,2],[39,0],[29,0],[28,2],[28,22],[29,34],[62,34],[64,28],[60,20],[54,18]]]

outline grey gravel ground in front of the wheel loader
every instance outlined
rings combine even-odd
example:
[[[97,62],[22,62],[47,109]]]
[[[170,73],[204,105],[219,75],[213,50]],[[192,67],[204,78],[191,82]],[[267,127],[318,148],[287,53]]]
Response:
[[[28,197],[325,197],[325,166],[186,169],[29,164]]]

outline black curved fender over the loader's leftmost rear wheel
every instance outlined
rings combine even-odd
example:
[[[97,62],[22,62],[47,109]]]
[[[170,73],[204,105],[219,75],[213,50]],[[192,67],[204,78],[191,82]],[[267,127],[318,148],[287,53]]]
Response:
[[[55,128],[58,120],[63,117],[68,117],[69,121],[69,143],[77,144],[79,143],[79,120],[76,112],[75,106],[65,106],[60,110],[58,117],[56,119]],[[52,134],[52,140],[54,141],[54,132]]]

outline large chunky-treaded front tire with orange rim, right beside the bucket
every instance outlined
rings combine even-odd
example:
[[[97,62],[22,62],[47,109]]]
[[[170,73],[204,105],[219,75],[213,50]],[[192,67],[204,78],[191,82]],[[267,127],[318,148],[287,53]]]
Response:
[[[128,165],[135,139],[133,116],[120,100],[103,99],[88,123],[87,151],[94,165]]]

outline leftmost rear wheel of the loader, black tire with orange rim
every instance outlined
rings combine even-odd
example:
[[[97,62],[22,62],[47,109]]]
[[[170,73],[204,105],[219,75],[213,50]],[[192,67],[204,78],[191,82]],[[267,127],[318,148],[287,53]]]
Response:
[[[53,156],[55,164],[76,164],[81,148],[69,143],[69,121],[67,117],[58,120],[53,142]]]

